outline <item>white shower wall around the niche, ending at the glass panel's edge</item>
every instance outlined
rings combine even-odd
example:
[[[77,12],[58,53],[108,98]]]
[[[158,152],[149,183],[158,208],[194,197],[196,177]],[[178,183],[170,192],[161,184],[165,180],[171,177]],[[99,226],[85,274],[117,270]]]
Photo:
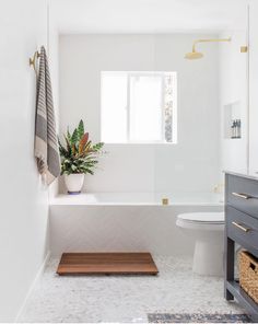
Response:
[[[242,19],[246,18],[247,12],[243,12]],[[248,45],[247,31],[228,31],[221,35],[228,36],[232,37],[232,42],[220,46],[221,170],[247,173],[248,53],[241,53],[241,47]],[[225,137],[226,106],[232,103],[236,103],[235,107],[233,108],[233,118],[242,119],[242,139]],[[222,174],[221,176],[223,177]]]

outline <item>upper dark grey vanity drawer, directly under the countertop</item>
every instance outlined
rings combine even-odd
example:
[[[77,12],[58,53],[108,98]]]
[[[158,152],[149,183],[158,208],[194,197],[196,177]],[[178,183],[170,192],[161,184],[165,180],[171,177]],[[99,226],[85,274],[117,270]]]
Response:
[[[235,175],[227,175],[226,201],[258,218],[258,182]]]

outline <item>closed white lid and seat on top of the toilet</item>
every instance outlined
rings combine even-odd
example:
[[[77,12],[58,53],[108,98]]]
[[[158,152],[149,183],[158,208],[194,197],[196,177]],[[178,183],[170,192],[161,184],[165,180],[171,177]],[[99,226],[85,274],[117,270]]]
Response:
[[[192,222],[224,223],[224,212],[188,212],[177,216],[178,219]]]

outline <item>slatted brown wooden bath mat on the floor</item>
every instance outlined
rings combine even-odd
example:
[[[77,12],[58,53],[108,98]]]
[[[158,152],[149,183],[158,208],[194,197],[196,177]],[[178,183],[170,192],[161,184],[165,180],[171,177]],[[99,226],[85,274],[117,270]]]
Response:
[[[58,275],[157,275],[150,253],[63,253]]]

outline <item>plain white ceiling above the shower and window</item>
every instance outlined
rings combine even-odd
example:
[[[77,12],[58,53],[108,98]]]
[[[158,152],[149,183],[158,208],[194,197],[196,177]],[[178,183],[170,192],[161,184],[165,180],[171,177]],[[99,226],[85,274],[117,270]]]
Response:
[[[61,34],[189,33],[244,28],[247,0],[50,0]]]

